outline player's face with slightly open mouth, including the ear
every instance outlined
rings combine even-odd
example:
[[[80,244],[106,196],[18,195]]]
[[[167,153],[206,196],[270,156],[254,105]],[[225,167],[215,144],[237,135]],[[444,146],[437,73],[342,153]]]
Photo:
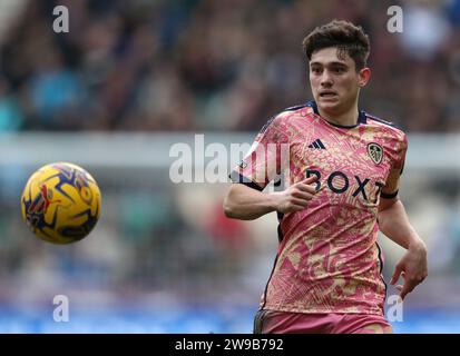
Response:
[[[339,58],[335,47],[313,52],[310,60],[310,83],[319,108],[342,115],[358,106],[360,88],[370,77],[370,69],[356,72],[354,60],[346,52]],[[341,53],[342,55],[342,53]]]

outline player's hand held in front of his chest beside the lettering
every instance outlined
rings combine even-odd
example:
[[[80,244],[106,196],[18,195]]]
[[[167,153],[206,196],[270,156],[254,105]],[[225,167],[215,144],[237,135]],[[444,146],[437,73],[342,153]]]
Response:
[[[317,176],[313,175],[298,181],[284,191],[274,192],[276,211],[286,214],[305,209],[313,199],[316,190]]]

